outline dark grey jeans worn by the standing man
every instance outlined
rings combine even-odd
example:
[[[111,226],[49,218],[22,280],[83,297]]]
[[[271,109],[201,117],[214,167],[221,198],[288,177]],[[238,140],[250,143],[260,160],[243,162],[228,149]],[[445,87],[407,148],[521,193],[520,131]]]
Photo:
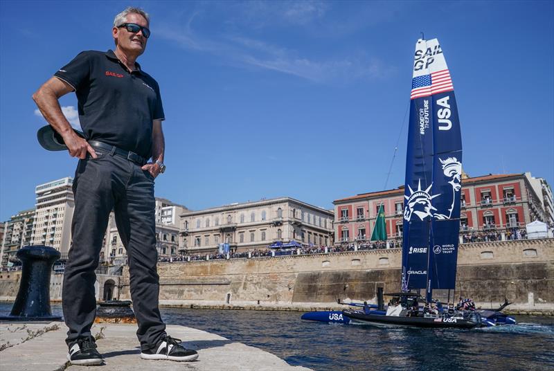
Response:
[[[166,325],[158,309],[154,179],[139,164],[97,150],[98,159],[79,161],[73,180],[73,242],[65,267],[62,305],[66,343],[91,335],[96,317],[94,284],[102,240],[113,209],[129,257],[130,289],[143,350],[156,345]]]

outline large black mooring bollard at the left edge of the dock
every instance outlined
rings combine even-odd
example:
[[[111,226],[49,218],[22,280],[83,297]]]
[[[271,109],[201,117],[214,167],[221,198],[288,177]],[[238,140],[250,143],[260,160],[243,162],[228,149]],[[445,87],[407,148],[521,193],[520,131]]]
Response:
[[[21,282],[10,316],[0,320],[61,320],[50,309],[50,276],[60,252],[50,246],[25,246],[17,251],[21,260]]]

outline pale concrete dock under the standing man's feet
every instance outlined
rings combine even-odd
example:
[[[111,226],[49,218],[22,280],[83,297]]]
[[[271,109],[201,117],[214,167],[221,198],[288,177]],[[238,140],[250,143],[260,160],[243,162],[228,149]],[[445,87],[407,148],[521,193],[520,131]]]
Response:
[[[0,323],[0,370],[62,371],[84,370],[66,359],[64,338],[67,328],[62,322]],[[105,364],[99,370],[198,370],[198,371],[308,371],[291,366],[278,356],[256,347],[235,343],[227,338],[190,327],[168,325],[167,332],[180,338],[184,345],[197,350],[193,362],[145,361],[141,359],[136,325],[102,323],[94,325],[98,351]],[[93,367],[93,366],[91,366]]]

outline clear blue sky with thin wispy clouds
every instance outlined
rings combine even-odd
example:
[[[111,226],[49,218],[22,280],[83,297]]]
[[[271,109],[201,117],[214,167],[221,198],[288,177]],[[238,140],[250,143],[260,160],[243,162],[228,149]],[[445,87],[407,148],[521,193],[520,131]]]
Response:
[[[554,185],[553,1],[137,1],[139,62],[160,84],[166,165],[156,194],[199,210],[289,196],[332,201],[404,183],[420,32],[452,74],[470,176]],[[113,48],[121,1],[1,1],[0,220],[76,160],[39,147],[32,93],[82,50]],[[61,104],[75,121],[73,94]]]

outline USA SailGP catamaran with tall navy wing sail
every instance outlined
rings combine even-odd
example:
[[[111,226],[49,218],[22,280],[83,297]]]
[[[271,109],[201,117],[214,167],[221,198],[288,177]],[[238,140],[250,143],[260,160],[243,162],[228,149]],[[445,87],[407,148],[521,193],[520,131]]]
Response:
[[[452,78],[438,39],[419,39],[406,152],[402,292],[388,294],[393,298],[386,311],[382,305],[350,303],[352,309],[310,312],[302,318],[415,327],[472,328],[495,325],[497,318],[498,323],[515,323],[500,311],[480,314],[453,305],[446,310],[433,300],[434,289],[455,289],[461,176],[461,132]],[[425,298],[412,291],[420,289],[425,289]],[[425,302],[422,308],[420,302]]]

